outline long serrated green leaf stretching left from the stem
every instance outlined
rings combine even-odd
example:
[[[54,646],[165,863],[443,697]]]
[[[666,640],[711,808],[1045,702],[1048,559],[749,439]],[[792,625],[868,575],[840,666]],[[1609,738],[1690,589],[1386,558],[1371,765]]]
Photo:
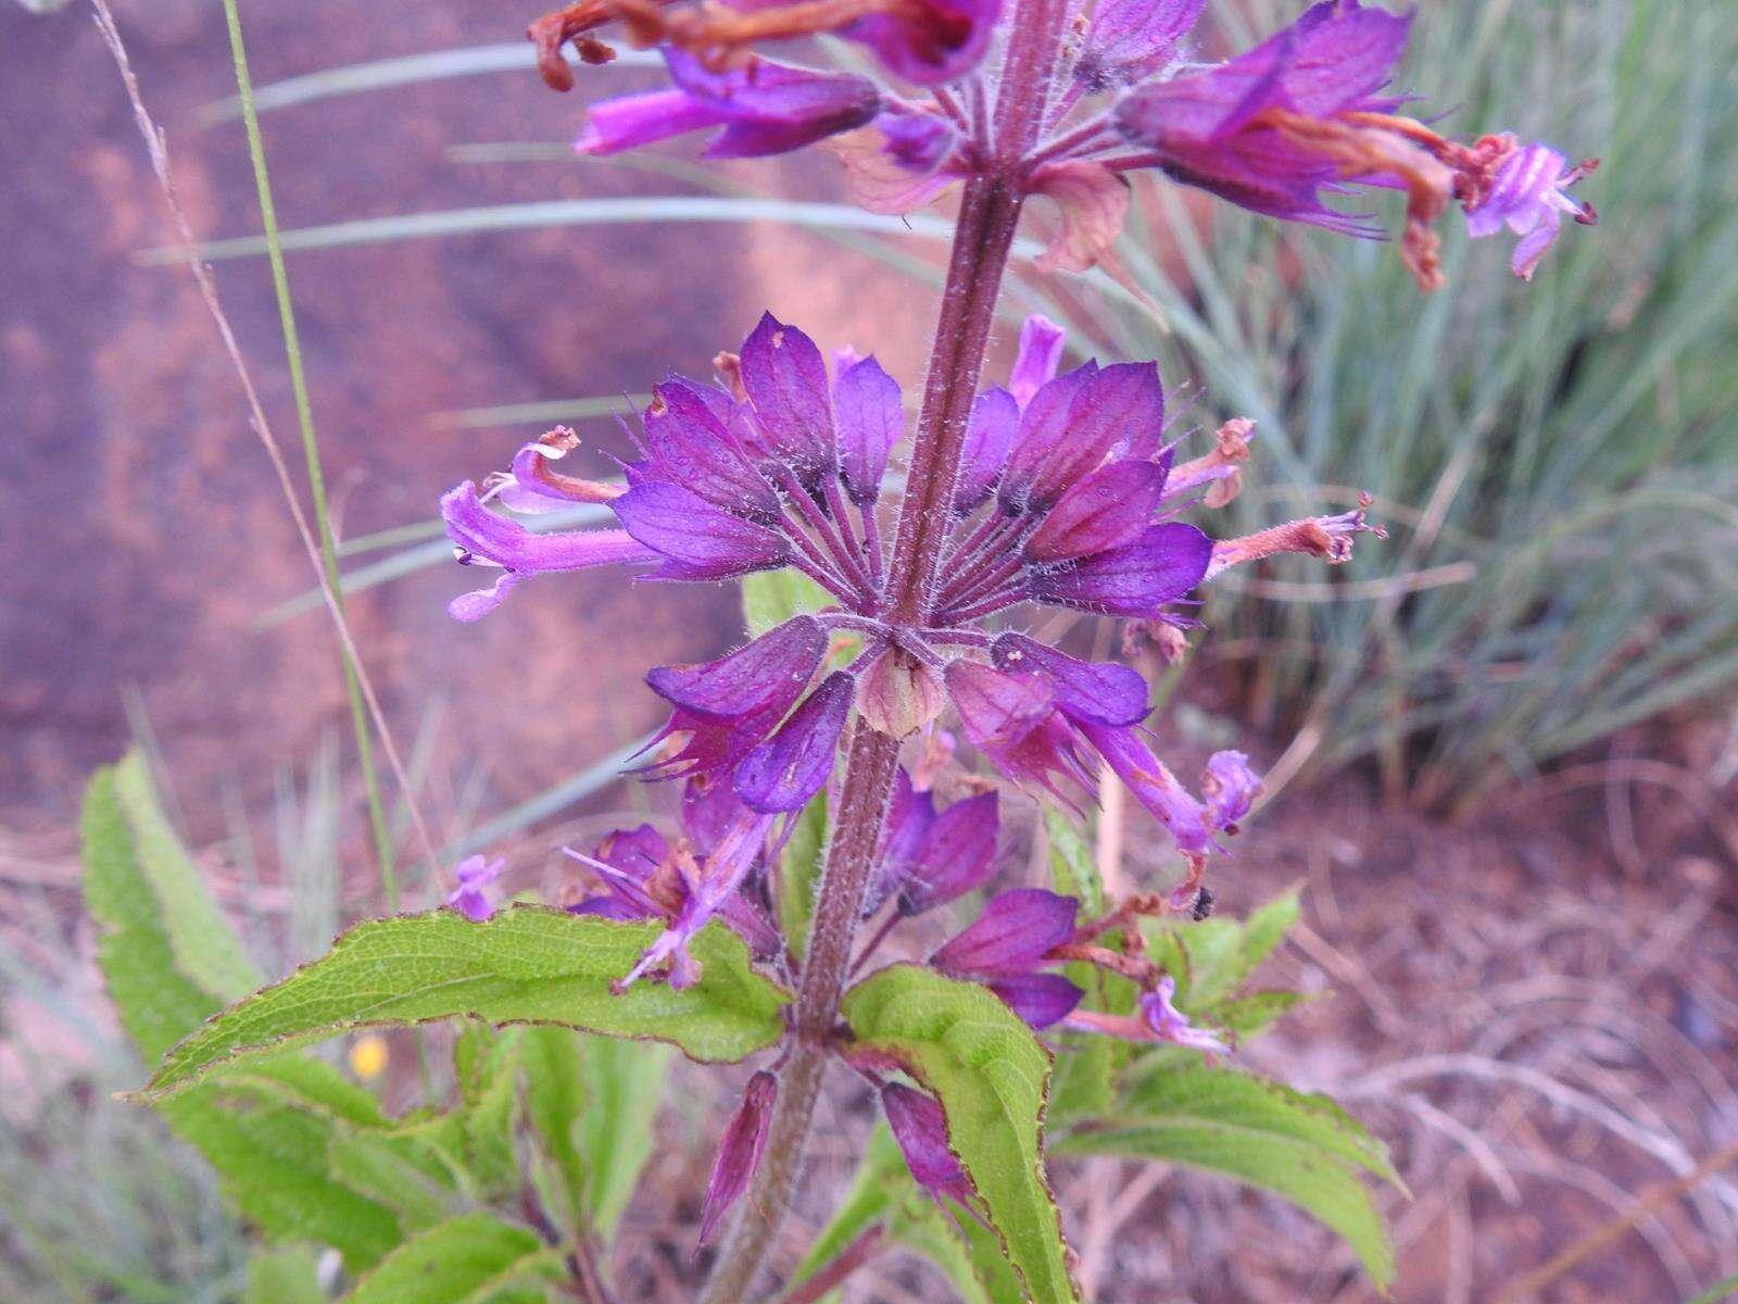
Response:
[[[786,993],[749,968],[747,946],[721,925],[692,944],[700,981],[685,991],[638,982],[612,995],[662,925],[614,923],[513,906],[487,923],[454,911],[368,920],[332,949],[229,1007],[165,1055],[143,1095],[162,1097],[214,1066],[304,1045],[363,1024],[469,1015],[554,1022],[610,1036],[657,1038],[700,1061],[739,1061],[784,1035]]]

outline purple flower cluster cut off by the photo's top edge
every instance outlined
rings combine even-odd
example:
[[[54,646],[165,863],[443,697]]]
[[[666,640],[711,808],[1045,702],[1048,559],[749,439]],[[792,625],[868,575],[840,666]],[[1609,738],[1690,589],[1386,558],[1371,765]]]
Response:
[[[534,24],[546,75],[567,89],[565,40],[596,56],[603,23],[657,45],[671,87],[594,104],[579,137],[605,155],[718,129],[709,156],[770,155],[827,141],[860,203],[909,212],[952,183],[1013,176],[1051,198],[1062,226],[1041,257],[1081,271],[1116,238],[1128,212],[1128,174],[1156,169],[1239,207],[1354,236],[1380,236],[1368,214],[1326,200],[1357,188],[1406,195],[1401,256],[1418,285],[1441,280],[1436,223],[1458,203],[1472,236],[1507,226],[1521,236],[1516,275],[1531,278],[1562,217],[1595,221],[1568,188],[1594,162],[1569,167],[1545,144],[1514,134],[1470,144],[1399,110],[1392,92],[1411,16],[1323,0],[1291,26],[1224,63],[1189,47],[1204,0],[1097,0],[1083,17],[1072,63],[1045,115],[1043,139],[1018,158],[991,141],[980,64],[1001,17],[998,0],[758,0],[652,9],[586,0]],[[895,92],[855,73],[760,59],[756,42],[819,31],[864,43]]]

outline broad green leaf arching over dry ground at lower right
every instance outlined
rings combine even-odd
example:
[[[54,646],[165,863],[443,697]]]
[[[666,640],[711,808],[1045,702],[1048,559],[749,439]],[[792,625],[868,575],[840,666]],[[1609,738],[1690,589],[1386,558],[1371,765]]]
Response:
[[[1284,1196],[1394,1281],[1394,1247],[1357,1168],[1399,1184],[1387,1149],[1324,1095],[1204,1064],[1166,1064],[1130,1092],[1130,1114],[1053,1142],[1057,1154],[1133,1154],[1236,1177]],[[1401,1186],[1404,1189],[1404,1186]]]

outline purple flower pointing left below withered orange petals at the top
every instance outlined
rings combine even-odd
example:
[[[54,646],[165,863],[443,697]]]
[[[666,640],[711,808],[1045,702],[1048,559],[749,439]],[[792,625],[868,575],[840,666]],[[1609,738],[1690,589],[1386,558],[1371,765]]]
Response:
[[[707,158],[756,158],[801,150],[869,122],[881,108],[874,83],[848,73],[815,73],[765,59],[711,71],[692,54],[664,49],[669,90],[593,104],[582,155],[614,155],[641,144],[721,127]]]

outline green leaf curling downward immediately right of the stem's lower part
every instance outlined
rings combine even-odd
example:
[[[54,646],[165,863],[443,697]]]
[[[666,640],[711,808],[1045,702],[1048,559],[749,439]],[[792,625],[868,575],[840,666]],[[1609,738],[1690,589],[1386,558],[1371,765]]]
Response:
[[[996,996],[916,965],[852,988],[841,1007],[859,1050],[935,1092],[991,1226],[1036,1304],[1074,1301],[1039,1128],[1050,1052]]]

